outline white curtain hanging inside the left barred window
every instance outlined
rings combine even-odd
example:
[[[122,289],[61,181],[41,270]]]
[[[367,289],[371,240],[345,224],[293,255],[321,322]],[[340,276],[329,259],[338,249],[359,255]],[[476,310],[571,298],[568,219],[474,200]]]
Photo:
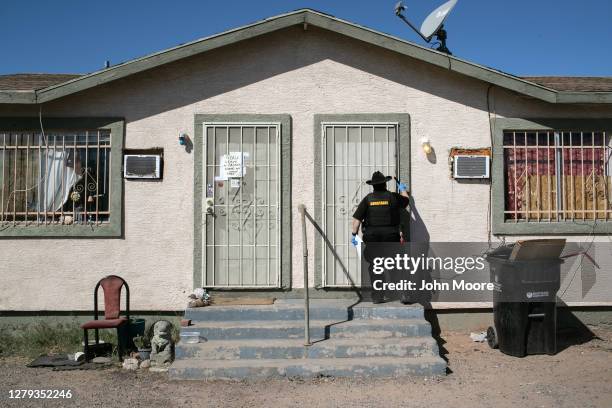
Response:
[[[74,167],[68,166],[68,152],[48,149],[40,159],[38,211],[59,211],[68,201],[70,189],[81,179]]]

